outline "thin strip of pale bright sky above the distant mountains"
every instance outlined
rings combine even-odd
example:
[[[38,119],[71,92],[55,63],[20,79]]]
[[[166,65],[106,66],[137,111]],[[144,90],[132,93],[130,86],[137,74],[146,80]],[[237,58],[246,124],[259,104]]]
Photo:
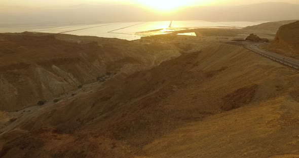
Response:
[[[6,12],[18,12],[19,8],[12,6],[31,8],[65,8],[76,5],[135,5],[155,12],[173,12],[189,6],[238,6],[266,2],[283,2],[299,4],[299,0],[0,0],[0,9]]]

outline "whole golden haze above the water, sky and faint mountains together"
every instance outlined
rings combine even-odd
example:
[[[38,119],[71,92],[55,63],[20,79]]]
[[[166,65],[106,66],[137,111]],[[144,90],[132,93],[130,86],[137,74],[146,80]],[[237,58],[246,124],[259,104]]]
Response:
[[[0,26],[164,20],[278,21],[293,19],[299,19],[299,1],[295,0],[271,2],[267,0],[76,0],[65,2],[5,0],[0,2]]]

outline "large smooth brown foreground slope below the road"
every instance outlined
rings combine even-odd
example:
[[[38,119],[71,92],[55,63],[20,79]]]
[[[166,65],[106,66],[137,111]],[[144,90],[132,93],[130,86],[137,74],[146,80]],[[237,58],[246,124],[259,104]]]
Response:
[[[294,156],[298,76],[213,43],[19,117],[1,134],[0,156]]]

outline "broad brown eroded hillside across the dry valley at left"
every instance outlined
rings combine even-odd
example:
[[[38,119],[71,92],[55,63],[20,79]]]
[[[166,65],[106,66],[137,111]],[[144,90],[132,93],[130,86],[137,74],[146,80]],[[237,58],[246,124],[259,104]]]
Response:
[[[20,110],[96,82],[107,73],[128,75],[180,56],[167,44],[76,38],[0,34],[0,110]]]

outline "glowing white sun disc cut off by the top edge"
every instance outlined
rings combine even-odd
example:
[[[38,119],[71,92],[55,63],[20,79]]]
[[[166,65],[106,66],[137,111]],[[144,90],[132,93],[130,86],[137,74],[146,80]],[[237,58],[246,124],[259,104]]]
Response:
[[[192,5],[196,0],[137,0],[144,7],[157,11],[169,12],[176,9]]]

